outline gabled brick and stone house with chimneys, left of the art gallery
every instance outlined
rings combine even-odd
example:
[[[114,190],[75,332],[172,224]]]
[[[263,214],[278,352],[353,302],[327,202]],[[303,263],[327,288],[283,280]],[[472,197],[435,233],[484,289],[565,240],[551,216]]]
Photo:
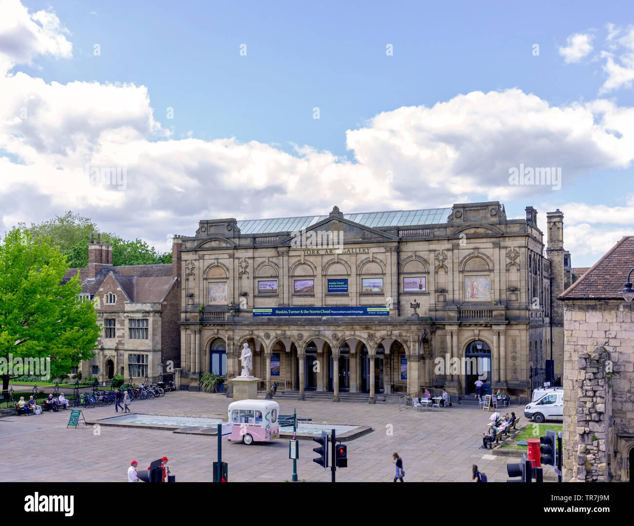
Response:
[[[91,236],[87,268],[65,275],[79,273],[82,297],[94,301],[103,325],[95,356],[81,363],[82,377],[153,377],[168,360],[179,367],[179,271],[178,240],[171,264],[112,266],[110,244]]]

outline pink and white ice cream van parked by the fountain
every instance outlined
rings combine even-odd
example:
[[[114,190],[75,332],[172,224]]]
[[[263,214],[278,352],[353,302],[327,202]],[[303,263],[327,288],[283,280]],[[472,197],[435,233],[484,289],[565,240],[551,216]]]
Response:
[[[240,400],[229,404],[229,440],[242,440],[249,446],[253,442],[270,442],[278,438],[279,414],[280,404],[271,400]]]

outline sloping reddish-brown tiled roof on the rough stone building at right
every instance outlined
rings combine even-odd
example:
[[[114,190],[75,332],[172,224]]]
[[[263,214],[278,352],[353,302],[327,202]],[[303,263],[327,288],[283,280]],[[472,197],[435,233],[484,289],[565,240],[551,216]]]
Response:
[[[623,299],[619,294],[634,266],[634,235],[623,237],[579,280],[559,296],[561,299]]]

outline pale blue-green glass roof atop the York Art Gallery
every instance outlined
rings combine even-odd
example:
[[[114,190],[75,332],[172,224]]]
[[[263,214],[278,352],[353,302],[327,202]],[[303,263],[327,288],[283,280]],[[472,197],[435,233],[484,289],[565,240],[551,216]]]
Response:
[[[344,218],[366,227],[401,227],[444,223],[450,213],[451,208],[424,208],[420,210],[356,212],[344,214]],[[327,217],[327,215],[309,215],[273,219],[247,219],[237,223],[240,234],[274,234],[275,232],[299,231]]]

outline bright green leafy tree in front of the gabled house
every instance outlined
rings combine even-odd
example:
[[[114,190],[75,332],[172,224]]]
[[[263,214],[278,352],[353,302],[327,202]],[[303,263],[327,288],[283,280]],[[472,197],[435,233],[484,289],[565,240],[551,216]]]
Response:
[[[61,280],[66,256],[49,239],[14,228],[0,244],[0,358],[51,358],[50,375],[90,360],[101,326],[79,277]],[[3,390],[9,375],[2,375]]]

